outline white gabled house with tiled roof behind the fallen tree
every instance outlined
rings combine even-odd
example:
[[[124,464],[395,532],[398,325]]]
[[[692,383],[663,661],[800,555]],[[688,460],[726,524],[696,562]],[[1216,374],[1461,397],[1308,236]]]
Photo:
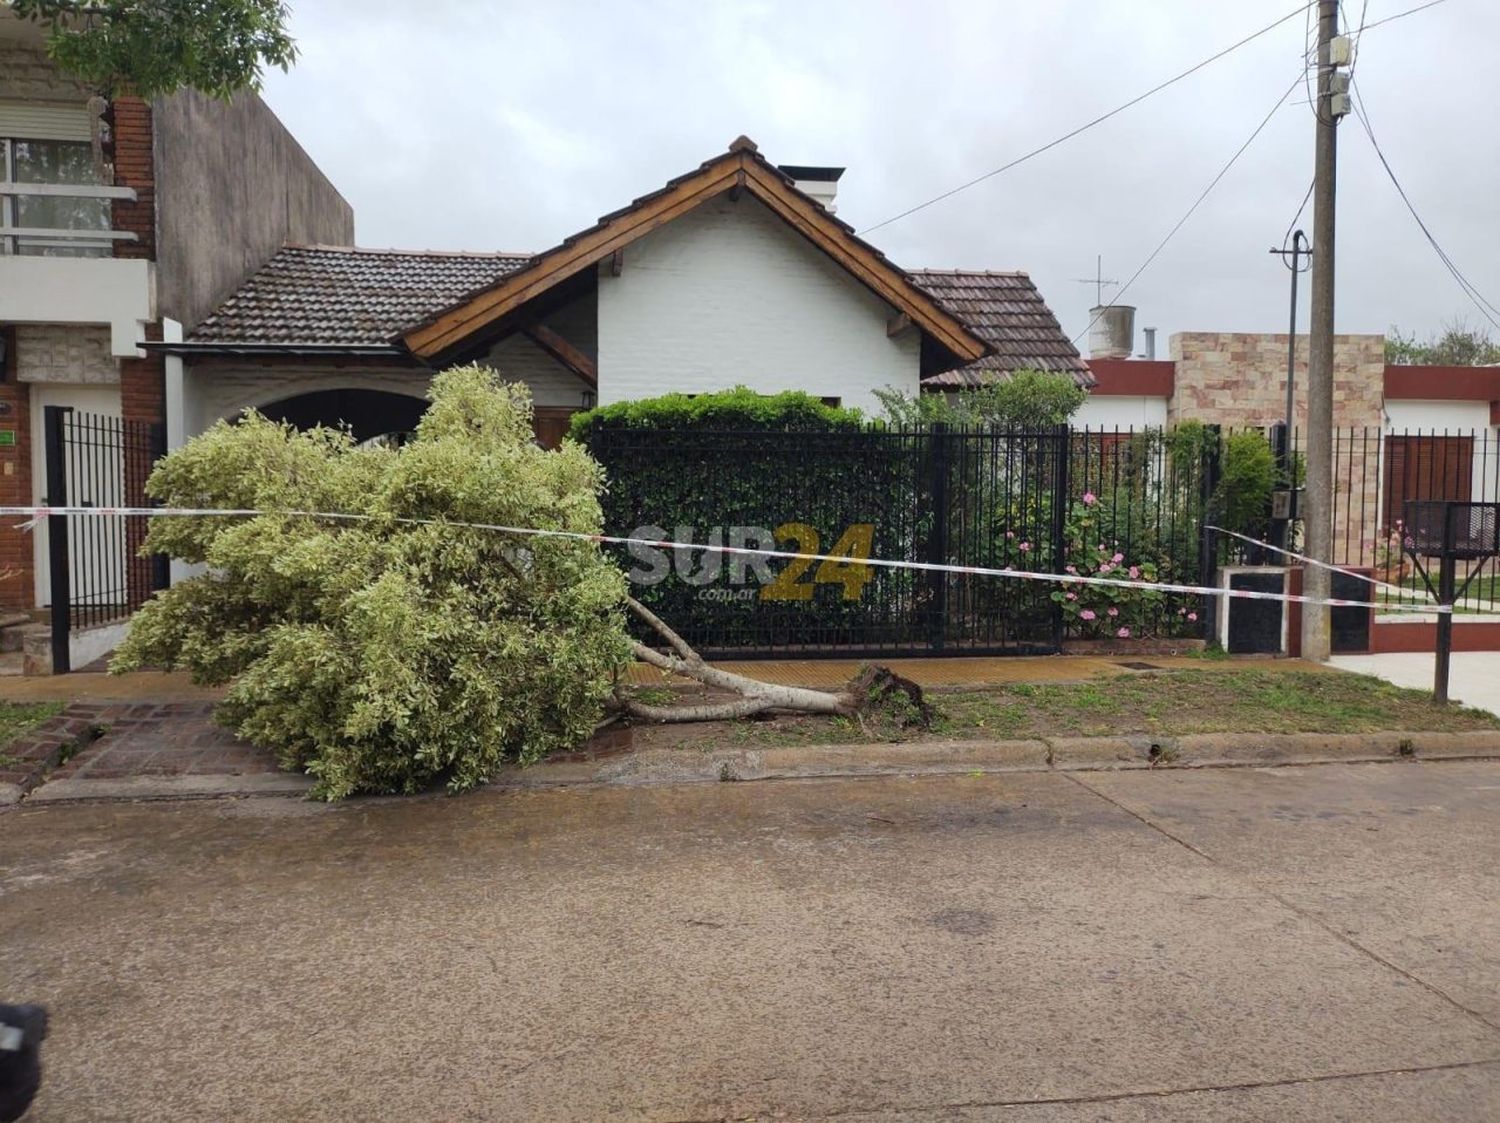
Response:
[[[432,372],[476,360],[530,385],[549,445],[580,409],[669,391],[807,390],[878,414],[885,387],[1036,366],[1090,382],[1024,274],[897,267],[834,216],[842,172],[778,168],[741,136],[542,253],[286,246],[158,346],[180,361],[172,439],[246,406],[408,430]]]

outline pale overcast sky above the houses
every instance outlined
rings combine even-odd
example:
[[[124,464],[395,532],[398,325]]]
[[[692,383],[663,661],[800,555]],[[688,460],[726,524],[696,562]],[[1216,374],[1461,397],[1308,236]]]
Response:
[[[1370,0],[1368,21],[1422,0]],[[1293,10],[1296,0],[294,0],[266,97],[354,205],[362,246],[537,250],[746,133],[844,165],[864,229],[998,168]],[[1346,0],[1353,24],[1360,0]],[[1125,280],[1302,72],[1287,21],[1119,117],[873,232],[906,267],[1020,268],[1070,334],[1095,255]],[[1444,0],[1360,43],[1376,136],[1430,229],[1500,304],[1500,4]],[[1312,174],[1287,99],[1125,294],[1137,327],[1284,331],[1281,244]],[[1304,102],[1304,103],[1294,103]],[[1311,234],[1311,205],[1302,225]],[[1113,289],[1106,289],[1110,297]],[[1299,327],[1306,324],[1304,283]],[[1340,126],[1338,330],[1485,321]],[[1500,316],[1497,316],[1500,319]],[[1491,334],[1500,337],[1492,328]],[[1086,343],[1083,345],[1086,346]],[[1137,334],[1137,349],[1142,346]]]

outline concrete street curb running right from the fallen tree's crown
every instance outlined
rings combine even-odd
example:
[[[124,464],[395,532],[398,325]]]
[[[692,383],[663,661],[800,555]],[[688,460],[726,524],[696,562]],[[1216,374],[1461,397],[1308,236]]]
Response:
[[[1500,759],[1500,730],[1468,733],[1203,733],[1194,736],[918,741],[854,745],[651,748],[602,760],[507,768],[500,789],[693,784],[873,775],[1098,772]]]

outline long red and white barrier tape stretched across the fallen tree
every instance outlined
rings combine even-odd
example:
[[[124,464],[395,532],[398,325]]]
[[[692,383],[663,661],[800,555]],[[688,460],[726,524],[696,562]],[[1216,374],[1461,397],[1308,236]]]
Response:
[[[700,550],[704,553],[735,553],[753,558],[784,558],[788,561],[831,561],[840,565],[876,565],[886,570],[916,570],[921,573],[960,573],[974,577],[1018,577],[1022,580],[1050,582],[1053,585],[1096,585],[1119,589],[1148,589],[1154,592],[1185,592],[1203,597],[1236,597],[1240,600],[1269,600],[1288,604],[1328,604],[1334,609],[1382,609],[1386,612],[1452,612],[1446,604],[1382,604],[1378,601],[1342,600],[1338,597],[1304,597],[1290,592],[1260,592],[1257,589],[1224,589],[1210,585],[1172,585],[1167,582],[1143,582],[1116,577],[1084,577],[1072,573],[1044,573],[1038,570],[987,568],[982,565],[945,565],[940,562],[886,561],[884,558],[850,558],[832,553],[794,553],[792,550],[765,550],[752,546],[711,546],[705,543],[658,541],[654,538],[624,538],[612,534],[582,534],[579,531],[546,531],[536,526],[501,526],[498,523],[458,522],[450,519],[381,519],[374,514],[345,514],[338,511],[260,511],[252,508],[213,510],[196,507],[0,507],[0,517],[26,517],[22,528],[30,529],[38,519],[51,516],[88,516],[99,519],[254,519],[282,516],[294,519],[324,519],[330,522],[392,522],[406,526],[453,526],[472,531],[494,531],[526,538],[568,538],[586,543],[609,543],[612,546],[651,546],[662,550]]]

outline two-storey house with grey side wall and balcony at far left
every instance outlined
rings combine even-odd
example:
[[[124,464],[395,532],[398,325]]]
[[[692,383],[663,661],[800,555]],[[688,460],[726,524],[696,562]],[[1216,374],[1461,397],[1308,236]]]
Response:
[[[166,420],[150,343],[196,327],[286,240],[351,241],[352,211],[258,97],[93,97],[3,6],[0,163],[0,502],[44,501],[50,405],[110,418],[98,489],[66,498],[140,502],[120,426]],[[134,586],[132,546],[99,534],[75,565]],[[0,609],[50,603],[45,558],[45,526],[0,529]]]

